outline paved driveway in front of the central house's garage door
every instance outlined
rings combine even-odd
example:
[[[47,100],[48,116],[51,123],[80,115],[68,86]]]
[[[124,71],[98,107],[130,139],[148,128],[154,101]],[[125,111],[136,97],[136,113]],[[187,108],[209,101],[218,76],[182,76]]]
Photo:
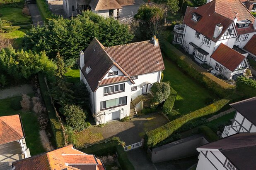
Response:
[[[168,123],[168,120],[161,113],[151,113],[133,118],[128,122],[114,121],[104,127],[91,127],[92,133],[102,133],[104,138],[113,136],[120,137],[126,142],[126,146],[141,141],[141,137],[148,130],[153,130]]]

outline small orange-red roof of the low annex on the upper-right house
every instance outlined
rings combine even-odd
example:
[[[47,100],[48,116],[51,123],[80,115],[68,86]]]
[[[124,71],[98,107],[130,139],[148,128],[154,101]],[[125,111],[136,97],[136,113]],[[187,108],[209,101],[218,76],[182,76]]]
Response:
[[[234,71],[244,61],[245,56],[233,50],[227,45],[221,43],[213,52],[212,56],[215,61],[225,66],[230,71]]]

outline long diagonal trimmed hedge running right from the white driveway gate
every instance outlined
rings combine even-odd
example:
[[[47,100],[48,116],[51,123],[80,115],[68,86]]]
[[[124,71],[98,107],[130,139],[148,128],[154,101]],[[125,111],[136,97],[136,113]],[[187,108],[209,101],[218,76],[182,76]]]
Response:
[[[180,118],[177,118],[165,125],[162,125],[158,127],[155,130],[151,130],[146,132],[145,139],[148,147],[153,147],[157,143],[163,141],[167,137],[169,137],[173,132],[178,130],[182,125],[187,123],[189,120],[193,120],[195,118],[200,118],[203,116],[210,115],[212,113],[217,112],[220,110],[223,106],[225,106],[229,100],[227,99],[221,99],[217,102],[214,102],[213,104],[210,104],[202,109],[193,111],[191,113],[188,113]]]

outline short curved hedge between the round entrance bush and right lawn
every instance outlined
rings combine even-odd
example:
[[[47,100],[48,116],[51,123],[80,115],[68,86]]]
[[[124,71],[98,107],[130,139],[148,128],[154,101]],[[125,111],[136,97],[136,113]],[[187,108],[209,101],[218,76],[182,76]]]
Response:
[[[174,102],[177,96],[177,92],[171,87],[170,82],[165,82],[170,85],[170,95],[168,98],[165,100],[164,105],[163,105],[163,112],[164,114],[169,114],[174,106]]]

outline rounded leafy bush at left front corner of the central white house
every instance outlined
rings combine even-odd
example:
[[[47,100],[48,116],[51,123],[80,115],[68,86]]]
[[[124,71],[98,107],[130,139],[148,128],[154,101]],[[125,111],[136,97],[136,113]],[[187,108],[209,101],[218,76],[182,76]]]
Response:
[[[60,109],[63,115],[66,117],[67,124],[77,131],[84,130],[87,126],[85,119],[86,114],[80,106],[65,105]]]

